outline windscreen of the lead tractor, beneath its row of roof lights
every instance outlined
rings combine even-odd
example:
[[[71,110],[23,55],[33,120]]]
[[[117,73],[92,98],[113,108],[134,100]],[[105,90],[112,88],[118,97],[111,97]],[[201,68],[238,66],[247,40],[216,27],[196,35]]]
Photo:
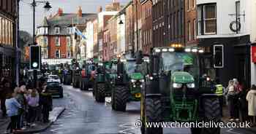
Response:
[[[162,68],[165,71],[187,71],[199,79],[199,64],[197,55],[188,52],[162,52]]]

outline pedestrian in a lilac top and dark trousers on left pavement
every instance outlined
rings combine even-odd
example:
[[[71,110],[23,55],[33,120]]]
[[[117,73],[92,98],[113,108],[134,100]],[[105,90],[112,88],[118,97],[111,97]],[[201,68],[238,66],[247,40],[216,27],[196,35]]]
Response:
[[[35,126],[34,122],[37,117],[37,107],[39,106],[39,95],[36,89],[29,91],[27,96],[27,102],[29,106],[29,125]]]

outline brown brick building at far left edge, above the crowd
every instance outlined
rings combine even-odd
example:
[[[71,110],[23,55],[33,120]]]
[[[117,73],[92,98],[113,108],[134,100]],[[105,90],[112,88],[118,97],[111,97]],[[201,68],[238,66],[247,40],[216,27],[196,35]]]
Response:
[[[0,0],[0,76],[15,78],[16,0]]]

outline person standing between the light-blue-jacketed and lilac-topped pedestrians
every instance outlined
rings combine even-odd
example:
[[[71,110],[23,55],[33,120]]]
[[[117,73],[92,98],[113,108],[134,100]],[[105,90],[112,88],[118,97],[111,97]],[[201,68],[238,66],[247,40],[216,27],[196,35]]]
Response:
[[[26,93],[26,86],[25,85],[21,85],[19,88],[15,89],[15,93],[16,95],[16,99],[18,101],[18,103],[20,103],[22,109],[20,109],[18,111],[18,129],[23,128],[23,122],[24,122],[24,116],[26,114],[26,97],[25,97],[25,93]]]

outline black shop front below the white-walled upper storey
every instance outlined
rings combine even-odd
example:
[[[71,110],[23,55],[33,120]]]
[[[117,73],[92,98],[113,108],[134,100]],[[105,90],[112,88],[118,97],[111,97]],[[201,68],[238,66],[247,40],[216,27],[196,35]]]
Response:
[[[214,45],[223,45],[222,68],[214,67]],[[201,74],[208,74],[212,79],[218,79],[225,86],[230,79],[234,78],[238,79],[244,87],[250,86],[249,35],[233,38],[199,39],[198,46],[205,50],[205,54],[200,56]]]

